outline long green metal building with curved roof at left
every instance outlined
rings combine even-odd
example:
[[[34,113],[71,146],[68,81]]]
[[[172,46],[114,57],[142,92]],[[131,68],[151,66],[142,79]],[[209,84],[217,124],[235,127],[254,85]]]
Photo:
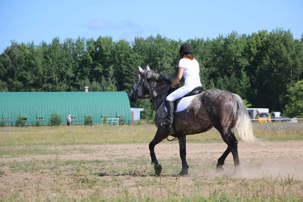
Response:
[[[62,117],[66,124],[68,115],[73,125],[83,125],[86,116],[93,117],[94,124],[104,118],[124,117],[131,122],[131,111],[126,92],[0,92],[0,116],[6,125],[15,125],[17,116],[26,118],[26,125],[46,125],[52,113]]]

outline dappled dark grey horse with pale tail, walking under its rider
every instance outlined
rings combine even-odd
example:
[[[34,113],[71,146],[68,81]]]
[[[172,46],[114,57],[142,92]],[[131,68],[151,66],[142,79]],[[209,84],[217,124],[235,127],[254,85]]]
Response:
[[[195,95],[188,107],[180,112],[175,112],[173,127],[167,128],[161,125],[163,118],[167,115],[164,100],[170,90],[171,81],[165,76],[156,73],[147,66],[145,70],[138,66],[138,76],[129,94],[130,102],[150,95],[151,102],[156,109],[155,125],[157,132],[149,143],[151,164],[154,165],[156,175],[162,172],[162,166],[158,163],[155,146],[169,135],[179,141],[180,158],[182,170],[179,176],[188,174],[186,161],[186,135],[203,133],[215,127],[221,134],[227,149],[218,159],[216,170],[223,171],[223,165],[229,153],[234,160],[234,173],[240,172],[240,161],[238,157],[238,140],[234,129],[237,129],[240,138],[244,142],[256,142],[259,139],[252,132],[252,123],[246,107],[237,94],[220,89],[209,89]]]

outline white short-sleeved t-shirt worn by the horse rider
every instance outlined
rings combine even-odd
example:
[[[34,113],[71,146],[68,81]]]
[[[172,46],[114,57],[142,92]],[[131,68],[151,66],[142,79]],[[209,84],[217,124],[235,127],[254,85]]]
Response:
[[[195,59],[190,60],[182,58],[179,60],[178,67],[184,68],[183,76],[185,79],[184,86],[202,86],[200,82],[199,63]]]

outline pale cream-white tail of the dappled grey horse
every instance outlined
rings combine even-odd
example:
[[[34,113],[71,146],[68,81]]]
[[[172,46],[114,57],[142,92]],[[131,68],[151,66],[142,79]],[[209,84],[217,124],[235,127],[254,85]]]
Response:
[[[244,142],[255,142],[259,139],[255,137],[252,132],[252,123],[247,113],[246,107],[241,97],[232,93],[234,100],[232,109],[232,118],[235,123],[235,128],[238,130],[238,134]]]

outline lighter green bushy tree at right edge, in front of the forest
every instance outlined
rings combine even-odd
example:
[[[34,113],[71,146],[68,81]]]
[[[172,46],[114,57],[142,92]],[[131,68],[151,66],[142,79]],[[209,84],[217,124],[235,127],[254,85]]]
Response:
[[[286,116],[303,118],[303,80],[288,88],[288,97],[284,111]]]

